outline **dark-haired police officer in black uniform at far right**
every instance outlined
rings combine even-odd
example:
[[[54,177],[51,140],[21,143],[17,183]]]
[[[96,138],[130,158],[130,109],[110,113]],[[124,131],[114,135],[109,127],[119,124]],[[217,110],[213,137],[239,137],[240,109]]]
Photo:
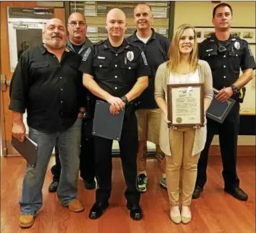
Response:
[[[239,103],[241,89],[253,79],[255,60],[247,43],[230,33],[233,11],[229,4],[221,3],[213,9],[215,33],[199,45],[200,59],[207,61],[213,73],[213,87],[219,90],[216,98],[226,101],[235,99],[235,105],[223,124],[207,118],[207,142],[198,164],[197,182],[193,198],[199,198],[207,181],[207,160],[213,136],[219,134],[223,161],[225,192],[238,200],[247,200],[248,195],[239,188],[237,176],[237,135],[239,133]],[[239,77],[240,68],[243,75]]]

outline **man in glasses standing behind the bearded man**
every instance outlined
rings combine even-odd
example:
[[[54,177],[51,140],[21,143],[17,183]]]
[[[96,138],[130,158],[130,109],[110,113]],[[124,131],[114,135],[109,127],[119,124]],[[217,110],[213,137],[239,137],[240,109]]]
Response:
[[[81,13],[75,12],[68,18],[68,44],[70,51],[84,56],[88,47],[92,42],[86,37],[86,18]],[[92,118],[94,98],[88,91],[83,97],[85,101],[85,113],[82,125],[81,151],[80,151],[80,176],[84,180],[84,185],[87,189],[94,189],[96,184],[94,181],[94,142],[92,137]],[[59,184],[59,176],[61,172],[61,164],[59,161],[59,150],[55,146],[55,161],[52,166],[51,173],[53,174],[53,182],[49,185],[49,192],[56,192]]]

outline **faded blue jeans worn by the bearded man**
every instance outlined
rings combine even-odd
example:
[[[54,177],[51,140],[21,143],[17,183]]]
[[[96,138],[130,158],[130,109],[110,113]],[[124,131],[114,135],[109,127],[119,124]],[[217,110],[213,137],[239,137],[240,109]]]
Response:
[[[61,174],[57,196],[64,206],[77,196],[77,182],[79,172],[79,152],[81,140],[82,118],[66,131],[45,133],[34,128],[29,128],[29,137],[37,143],[37,164],[35,168],[27,164],[23,180],[22,196],[19,200],[21,215],[33,215],[43,205],[42,187],[45,173],[51,157],[53,147],[59,146],[59,159]]]

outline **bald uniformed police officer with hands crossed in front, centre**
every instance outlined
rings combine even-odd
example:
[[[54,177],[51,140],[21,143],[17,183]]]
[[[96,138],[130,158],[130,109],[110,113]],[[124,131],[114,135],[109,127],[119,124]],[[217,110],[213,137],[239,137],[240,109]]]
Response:
[[[124,179],[125,196],[130,217],[142,218],[140,193],[136,188],[136,153],[138,151],[138,128],[131,101],[148,86],[150,70],[144,53],[124,39],[126,17],[120,9],[112,9],[106,19],[108,39],[88,49],[82,59],[80,71],[83,83],[98,99],[110,103],[110,113],[118,114],[124,107],[120,157]],[[102,116],[104,117],[104,116]],[[108,207],[112,180],[113,140],[95,136],[96,202],[90,210],[90,218],[99,218]]]

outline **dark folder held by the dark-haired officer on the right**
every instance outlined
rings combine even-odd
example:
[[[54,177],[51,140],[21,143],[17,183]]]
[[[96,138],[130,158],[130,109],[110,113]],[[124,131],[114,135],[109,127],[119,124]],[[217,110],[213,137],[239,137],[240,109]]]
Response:
[[[214,91],[213,93],[213,101],[207,109],[207,117],[216,120],[219,123],[223,123],[229,112],[231,111],[233,105],[235,104],[235,100],[229,98],[225,102],[217,101],[215,98],[218,93]]]

